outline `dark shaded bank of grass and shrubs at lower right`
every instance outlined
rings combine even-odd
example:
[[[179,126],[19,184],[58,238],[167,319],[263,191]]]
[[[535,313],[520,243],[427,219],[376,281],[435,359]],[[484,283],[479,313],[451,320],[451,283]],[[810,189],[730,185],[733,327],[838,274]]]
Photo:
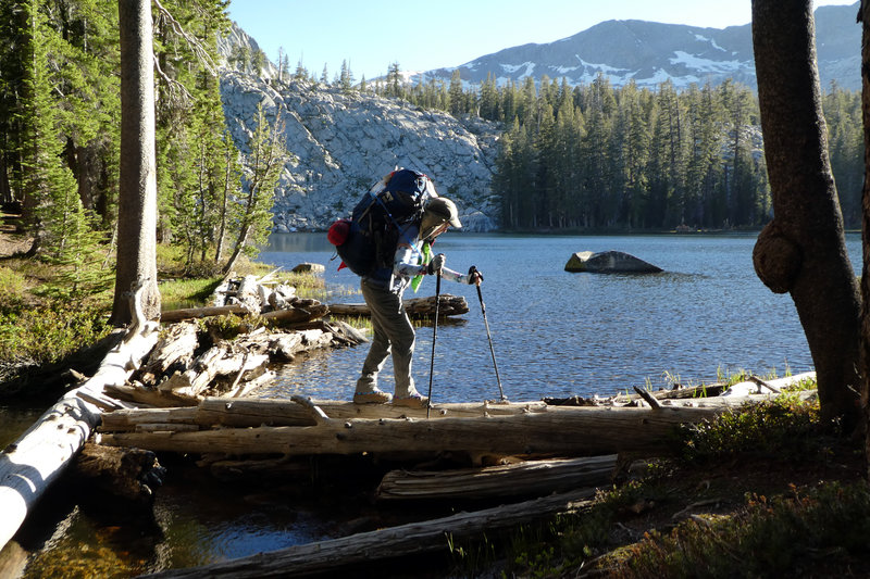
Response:
[[[489,567],[501,577],[697,577],[699,569],[705,577],[826,576],[834,561],[837,570],[870,569],[870,487],[857,475],[818,483],[811,474],[809,484],[787,484],[803,470],[844,473],[832,460],[834,445],[844,452],[837,435],[836,425],[821,423],[818,401],[796,393],[725,413],[682,429],[678,456],[648,464],[644,478],[599,492],[576,514],[501,538],[451,542],[453,565],[462,575]],[[765,495],[732,479],[753,473],[751,465],[761,465],[758,480],[780,490]],[[673,512],[711,498],[734,506],[672,520]],[[643,525],[649,514],[658,523],[648,523],[639,541],[625,541],[622,521]]]

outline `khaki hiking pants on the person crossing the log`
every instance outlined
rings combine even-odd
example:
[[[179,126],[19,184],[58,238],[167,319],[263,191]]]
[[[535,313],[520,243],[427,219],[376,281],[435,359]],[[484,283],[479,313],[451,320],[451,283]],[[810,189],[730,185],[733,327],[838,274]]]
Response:
[[[360,282],[362,297],[372,312],[372,347],[357,380],[357,392],[369,392],[377,386],[377,373],[393,354],[396,398],[408,398],[414,391],[411,363],[414,357],[414,327],[405,313],[401,293],[375,287],[364,279]]]

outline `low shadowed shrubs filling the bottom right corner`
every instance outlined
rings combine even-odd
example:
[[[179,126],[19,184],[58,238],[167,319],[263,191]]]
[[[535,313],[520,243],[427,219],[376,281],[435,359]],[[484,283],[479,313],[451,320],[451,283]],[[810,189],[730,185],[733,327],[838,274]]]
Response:
[[[688,519],[669,533],[648,532],[611,557],[619,577],[785,577],[838,575],[863,554],[870,531],[865,482],[826,483],[768,499],[750,496],[733,516]],[[612,566],[611,566],[612,569]],[[813,570],[816,572],[813,572]]]

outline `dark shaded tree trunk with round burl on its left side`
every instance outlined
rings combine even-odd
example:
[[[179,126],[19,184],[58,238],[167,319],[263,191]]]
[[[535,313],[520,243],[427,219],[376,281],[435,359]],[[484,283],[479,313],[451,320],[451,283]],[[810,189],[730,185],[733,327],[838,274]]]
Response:
[[[790,292],[823,418],[859,417],[860,294],[828,156],[810,0],[753,0],[753,42],[774,219],[756,242],[761,281]]]

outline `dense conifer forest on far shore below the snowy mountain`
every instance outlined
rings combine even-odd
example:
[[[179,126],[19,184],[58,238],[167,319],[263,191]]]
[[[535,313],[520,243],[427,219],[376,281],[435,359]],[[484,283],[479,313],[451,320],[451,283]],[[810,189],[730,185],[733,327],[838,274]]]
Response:
[[[678,90],[667,80],[651,90],[612,87],[600,74],[573,87],[546,76],[499,86],[489,75],[465,86],[455,71],[449,83],[412,84],[394,62],[385,77],[355,85],[347,61],[332,83],[325,66],[318,80],[301,62],[282,78],[501,123],[493,191],[507,229],[754,228],[772,217],[758,98],[733,81]],[[857,228],[860,92],[832,84],[822,104],[845,224]]]

